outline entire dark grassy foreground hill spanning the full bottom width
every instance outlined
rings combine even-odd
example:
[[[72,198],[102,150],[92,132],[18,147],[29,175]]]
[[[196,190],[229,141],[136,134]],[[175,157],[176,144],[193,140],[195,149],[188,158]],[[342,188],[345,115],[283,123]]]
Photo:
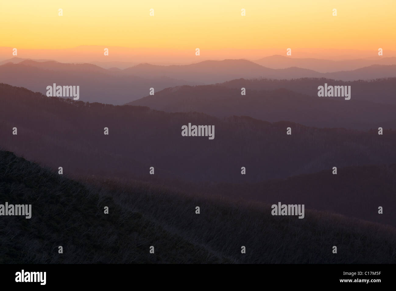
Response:
[[[393,263],[396,259],[392,227],[309,210],[304,219],[272,216],[269,205],[192,197],[145,183],[89,183],[0,151],[0,203],[32,204],[30,219],[0,217],[0,262]],[[109,214],[104,214],[105,206]],[[200,214],[195,213],[196,206]],[[154,254],[149,253],[150,246]],[[332,253],[333,246],[337,254]]]

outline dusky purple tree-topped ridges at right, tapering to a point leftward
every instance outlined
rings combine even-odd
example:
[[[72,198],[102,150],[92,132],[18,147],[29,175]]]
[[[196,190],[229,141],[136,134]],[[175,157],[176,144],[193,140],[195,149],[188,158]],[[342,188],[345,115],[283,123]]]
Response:
[[[300,79],[301,80],[301,79]],[[396,105],[377,104],[364,101],[359,92],[371,87],[372,92],[382,87],[382,95],[372,95],[372,101],[381,100],[383,95],[394,97],[395,79],[377,82],[354,82],[351,86],[351,99],[343,97],[318,97],[318,85],[332,80],[306,79],[292,81],[234,80],[217,85],[178,86],[164,89],[154,95],[127,103],[128,105],[147,106],[166,112],[204,112],[219,118],[227,116],[250,116],[253,118],[278,122],[293,120],[305,126],[344,127],[348,129],[371,129],[378,127],[396,128]],[[293,88],[293,84],[302,85],[302,91],[316,97],[290,91],[272,89],[284,84]],[[252,86],[250,85],[252,84]],[[309,84],[309,86],[304,86]],[[343,84],[343,82],[336,83]],[[349,83],[348,83],[349,84]],[[364,84],[361,85],[361,84]],[[387,84],[388,86],[383,86]],[[237,86],[238,85],[238,86]],[[241,95],[241,87],[246,87],[246,95]],[[298,85],[296,85],[298,86]],[[257,90],[258,87],[271,87],[272,90]],[[253,88],[253,89],[251,89]],[[359,89],[358,89],[359,88]],[[293,88],[294,89],[294,88]],[[396,100],[392,100],[395,102]]]

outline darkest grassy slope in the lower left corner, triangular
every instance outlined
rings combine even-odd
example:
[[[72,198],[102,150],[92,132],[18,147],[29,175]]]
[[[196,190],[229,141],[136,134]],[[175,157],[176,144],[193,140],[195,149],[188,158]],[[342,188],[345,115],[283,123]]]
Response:
[[[0,152],[0,203],[32,204],[31,219],[0,217],[0,263],[226,261],[142,213],[122,209],[107,194]]]

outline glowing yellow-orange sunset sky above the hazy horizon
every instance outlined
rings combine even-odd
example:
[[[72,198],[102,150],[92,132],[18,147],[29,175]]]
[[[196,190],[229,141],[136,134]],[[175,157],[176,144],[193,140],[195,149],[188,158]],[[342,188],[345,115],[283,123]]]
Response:
[[[395,19],[395,0],[1,1],[0,47],[395,50]]]

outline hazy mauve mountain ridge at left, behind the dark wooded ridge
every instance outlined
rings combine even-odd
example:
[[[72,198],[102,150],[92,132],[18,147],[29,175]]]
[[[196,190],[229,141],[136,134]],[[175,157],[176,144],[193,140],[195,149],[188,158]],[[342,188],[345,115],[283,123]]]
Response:
[[[173,80],[167,77],[142,78],[117,74],[92,64],[67,64],[55,61],[25,60],[18,64],[0,66],[0,81],[26,87],[46,94],[47,86],[80,86],[80,100],[109,104],[124,104],[149,93],[150,88],[161,90],[169,86],[202,83]]]

